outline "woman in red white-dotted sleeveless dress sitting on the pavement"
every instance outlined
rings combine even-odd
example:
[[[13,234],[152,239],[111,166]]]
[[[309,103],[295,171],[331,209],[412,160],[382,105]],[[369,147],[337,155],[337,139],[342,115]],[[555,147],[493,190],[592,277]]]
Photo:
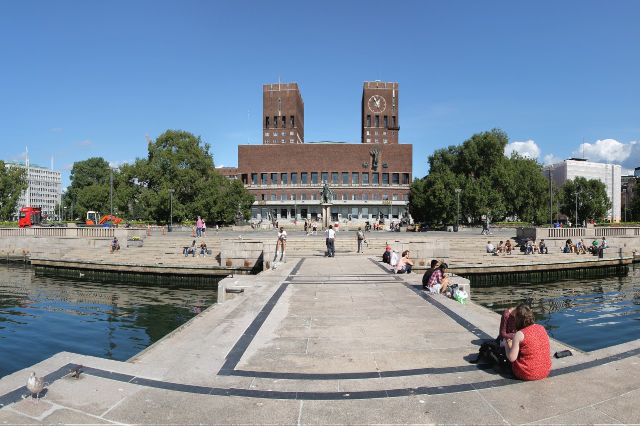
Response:
[[[540,324],[535,324],[533,312],[525,304],[516,306],[513,314],[518,331],[513,335],[510,346],[506,339],[502,340],[513,374],[521,380],[544,379],[551,370],[551,348],[547,330]]]

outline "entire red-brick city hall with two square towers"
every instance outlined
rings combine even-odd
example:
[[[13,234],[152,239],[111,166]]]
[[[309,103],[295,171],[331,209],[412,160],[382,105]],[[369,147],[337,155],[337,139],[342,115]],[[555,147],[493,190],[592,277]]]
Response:
[[[263,86],[262,145],[238,146],[238,177],[255,198],[252,221],[317,219],[322,214],[324,181],[333,191],[332,221],[359,224],[376,220],[380,214],[386,219],[406,216],[413,146],[398,143],[397,90],[397,83],[364,84],[361,143],[303,143],[304,111],[298,85]],[[367,115],[374,118],[367,120]],[[290,138],[287,133],[284,143],[278,136],[274,143],[275,123],[278,132],[294,135]],[[393,136],[367,140],[367,131],[393,132]]]

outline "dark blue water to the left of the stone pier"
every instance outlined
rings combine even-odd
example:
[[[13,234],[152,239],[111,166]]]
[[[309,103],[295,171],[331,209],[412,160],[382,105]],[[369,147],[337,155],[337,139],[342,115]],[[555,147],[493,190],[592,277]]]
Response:
[[[61,351],[124,361],[216,299],[216,286],[91,283],[0,265],[0,377]]]

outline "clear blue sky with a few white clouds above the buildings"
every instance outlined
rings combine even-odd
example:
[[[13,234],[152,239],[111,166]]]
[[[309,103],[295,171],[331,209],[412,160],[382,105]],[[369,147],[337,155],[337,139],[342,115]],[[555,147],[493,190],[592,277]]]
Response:
[[[508,149],[640,166],[640,1],[3,1],[0,159],[63,171],[202,136],[260,143],[262,84],[296,82],[305,140],[360,142],[362,83],[399,83],[413,174],[499,127]],[[301,164],[301,168],[304,165]],[[302,169],[301,169],[302,170]]]

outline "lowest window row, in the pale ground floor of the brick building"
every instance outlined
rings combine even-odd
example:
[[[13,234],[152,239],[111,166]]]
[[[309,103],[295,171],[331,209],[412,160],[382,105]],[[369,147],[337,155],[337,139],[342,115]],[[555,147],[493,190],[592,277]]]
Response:
[[[271,210],[271,211],[269,211]],[[401,209],[399,207],[392,207],[389,209],[388,207],[332,207],[331,208],[331,216],[332,220],[337,220],[339,214],[344,219],[351,216],[351,219],[373,219],[378,220],[380,218],[380,212],[382,212],[382,216],[385,219],[399,219]],[[288,209],[269,209],[268,207],[253,207],[251,209],[251,216],[253,219],[258,218],[258,214],[260,214],[260,218],[266,219],[271,217],[271,214],[276,214],[276,219],[288,219],[289,217],[296,217],[300,219],[312,219],[316,220],[321,216],[321,212],[319,212],[318,207],[297,207],[297,208],[288,208]]]

